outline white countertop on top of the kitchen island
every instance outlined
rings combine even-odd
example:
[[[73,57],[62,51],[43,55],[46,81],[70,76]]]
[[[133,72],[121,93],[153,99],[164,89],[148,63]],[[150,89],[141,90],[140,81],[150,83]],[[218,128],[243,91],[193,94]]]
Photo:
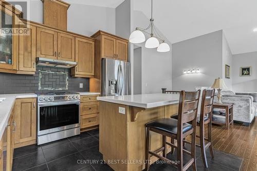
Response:
[[[165,105],[178,103],[179,94],[155,93],[155,94],[136,94],[136,95],[125,95],[125,96],[106,96],[106,97],[98,97],[97,100],[123,104],[128,106],[152,108],[152,107],[165,106]]]

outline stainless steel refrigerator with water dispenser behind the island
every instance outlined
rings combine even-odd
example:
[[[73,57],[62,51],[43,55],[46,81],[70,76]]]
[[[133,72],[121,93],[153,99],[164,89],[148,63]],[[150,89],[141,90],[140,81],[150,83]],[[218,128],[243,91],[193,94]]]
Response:
[[[131,63],[102,59],[102,96],[131,94]]]

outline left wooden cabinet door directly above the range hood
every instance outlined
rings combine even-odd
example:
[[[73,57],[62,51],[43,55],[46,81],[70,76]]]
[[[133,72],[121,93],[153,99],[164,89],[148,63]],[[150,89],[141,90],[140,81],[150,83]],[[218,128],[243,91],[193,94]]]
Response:
[[[44,28],[36,28],[36,56],[57,59],[58,33]]]

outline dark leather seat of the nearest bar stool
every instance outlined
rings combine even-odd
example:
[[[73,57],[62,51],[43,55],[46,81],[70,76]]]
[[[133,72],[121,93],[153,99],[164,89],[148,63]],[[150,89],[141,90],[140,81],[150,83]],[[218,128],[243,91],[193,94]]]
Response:
[[[166,131],[171,134],[177,134],[177,120],[172,118],[161,118],[147,123],[145,126],[155,128],[161,131]],[[192,129],[192,125],[183,123],[182,132]]]

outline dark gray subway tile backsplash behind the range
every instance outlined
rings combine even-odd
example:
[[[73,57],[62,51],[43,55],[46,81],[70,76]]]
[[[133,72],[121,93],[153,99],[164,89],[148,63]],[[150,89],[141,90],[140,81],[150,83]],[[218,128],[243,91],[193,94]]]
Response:
[[[50,91],[89,91],[88,78],[72,78],[70,77],[70,69],[53,68],[53,67],[36,67],[34,75],[13,74],[0,72],[0,94],[11,93],[42,93],[49,90],[39,90],[39,71],[60,71],[69,72],[68,74],[68,90],[50,90]],[[56,87],[65,84],[63,78],[58,75],[49,74],[41,80],[44,87]],[[79,88],[79,84],[83,83],[83,88]]]

